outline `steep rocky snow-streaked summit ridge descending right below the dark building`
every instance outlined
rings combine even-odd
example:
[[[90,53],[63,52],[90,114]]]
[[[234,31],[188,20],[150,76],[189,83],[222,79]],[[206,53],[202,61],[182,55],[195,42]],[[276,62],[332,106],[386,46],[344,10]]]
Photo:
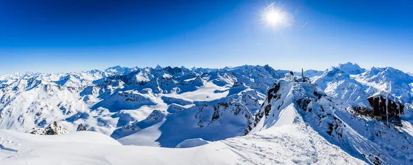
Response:
[[[255,115],[250,134],[293,125],[308,129],[302,136],[315,136],[313,142],[314,138],[326,140],[369,164],[413,163],[412,131],[353,115],[349,106],[327,96],[317,85],[279,80]],[[404,124],[411,127],[410,122]]]

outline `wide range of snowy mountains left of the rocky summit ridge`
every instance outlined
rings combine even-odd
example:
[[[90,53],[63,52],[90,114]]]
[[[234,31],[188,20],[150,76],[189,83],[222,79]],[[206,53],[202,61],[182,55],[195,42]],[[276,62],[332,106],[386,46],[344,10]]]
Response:
[[[222,140],[245,134],[266,91],[286,73],[245,65],[13,74],[1,81],[0,128],[32,132],[58,122],[73,132],[83,124],[123,144],[167,147]]]

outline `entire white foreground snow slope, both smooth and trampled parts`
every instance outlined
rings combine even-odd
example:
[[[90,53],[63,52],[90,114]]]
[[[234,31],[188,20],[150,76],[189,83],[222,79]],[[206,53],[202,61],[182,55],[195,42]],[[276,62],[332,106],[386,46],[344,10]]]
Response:
[[[122,146],[89,131],[41,136],[0,130],[0,164],[363,164],[333,146],[326,146],[329,150],[318,148],[329,152],[326,154],[310,146],[293,148],[291,145],[306,144],[303,140],[307,139],[292,131],[235,137],[194,148],[159,148]],[[283,139],[286,142],[280,143]]]

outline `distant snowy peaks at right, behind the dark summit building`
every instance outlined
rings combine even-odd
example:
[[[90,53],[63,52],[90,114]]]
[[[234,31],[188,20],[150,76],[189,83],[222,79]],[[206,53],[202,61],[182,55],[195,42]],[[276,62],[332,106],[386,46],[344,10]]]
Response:
[[[413,101],[413,77],[392,67],[361,69],[346,63],[327,69],[313,78],[328,96],[348,102],[352,106],[368,107],[367,98],[386,93],[410,103]]]

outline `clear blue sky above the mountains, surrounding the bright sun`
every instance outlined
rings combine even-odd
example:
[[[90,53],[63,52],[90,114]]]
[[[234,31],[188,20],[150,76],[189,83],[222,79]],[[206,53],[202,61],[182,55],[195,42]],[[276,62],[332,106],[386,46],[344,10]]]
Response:
[[[413,72],[412,1],[0,1],[0,74],[127,67],[326,69],[348,61]]]

